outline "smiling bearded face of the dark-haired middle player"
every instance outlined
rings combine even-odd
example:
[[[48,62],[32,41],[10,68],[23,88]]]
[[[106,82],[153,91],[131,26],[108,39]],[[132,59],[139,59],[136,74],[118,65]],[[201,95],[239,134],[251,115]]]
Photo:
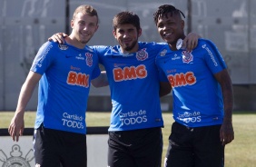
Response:
[[[134,53],[139,49],[138,38],[142,34],[142,29],[137,31],[131,24],[118,25],[113,30],[113,36],[121,46],[123,53]]]

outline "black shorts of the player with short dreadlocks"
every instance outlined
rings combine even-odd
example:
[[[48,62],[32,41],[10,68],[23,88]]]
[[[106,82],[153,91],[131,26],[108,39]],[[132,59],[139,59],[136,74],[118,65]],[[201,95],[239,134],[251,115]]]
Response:
[[[221,125],[189,128],[172,123],[165,167],[223,167]]]

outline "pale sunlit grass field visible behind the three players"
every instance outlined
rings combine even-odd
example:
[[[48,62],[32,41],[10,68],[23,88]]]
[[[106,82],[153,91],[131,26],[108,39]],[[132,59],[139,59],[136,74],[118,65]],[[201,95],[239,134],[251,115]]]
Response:
[[[13,112],[0,112],[0,128],[7,128]],[[25,113],[25,127],[34,126],[34,112]],[[110,113],[88,112],[87,126],[108,126]],[[172,113],[163,113],[164,128],[163,152],[164,157],[168,137],[171,133]],[[236,112],[233,114],[235,140],[226,145],[225,167],[256,167],[256,112]],[[162,158],[163,159],[163,158]]]

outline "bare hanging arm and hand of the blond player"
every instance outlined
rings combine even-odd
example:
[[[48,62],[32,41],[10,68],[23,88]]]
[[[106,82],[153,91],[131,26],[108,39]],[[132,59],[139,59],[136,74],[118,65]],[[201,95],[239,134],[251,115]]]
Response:
[[[32,71],[26,77],[25,83],[21,88],[21,92],[19,94],[19,99],[15,111],[15,116],[13,117],[8,132],[12,136],[14,141],[19,141],[19,136],[23,134],[25,124],[24,124],[24,114],[25,114],[25,106],[29,102],[33,92],[34,87],[39,82],[41,78],[41,74],[36,74]]]

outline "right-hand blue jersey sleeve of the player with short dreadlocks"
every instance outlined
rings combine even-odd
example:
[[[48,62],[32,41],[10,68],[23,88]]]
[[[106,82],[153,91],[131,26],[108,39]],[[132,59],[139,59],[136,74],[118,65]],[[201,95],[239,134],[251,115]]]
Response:
[[[208,67],[211,69],[212,74],[219,73],[223,69],[226,69],[227,66],[217,46],[213,44],[210,40],[204,41],[205,43],[202,44],[202,50],[203,52],[205,52],[204,60]]]

